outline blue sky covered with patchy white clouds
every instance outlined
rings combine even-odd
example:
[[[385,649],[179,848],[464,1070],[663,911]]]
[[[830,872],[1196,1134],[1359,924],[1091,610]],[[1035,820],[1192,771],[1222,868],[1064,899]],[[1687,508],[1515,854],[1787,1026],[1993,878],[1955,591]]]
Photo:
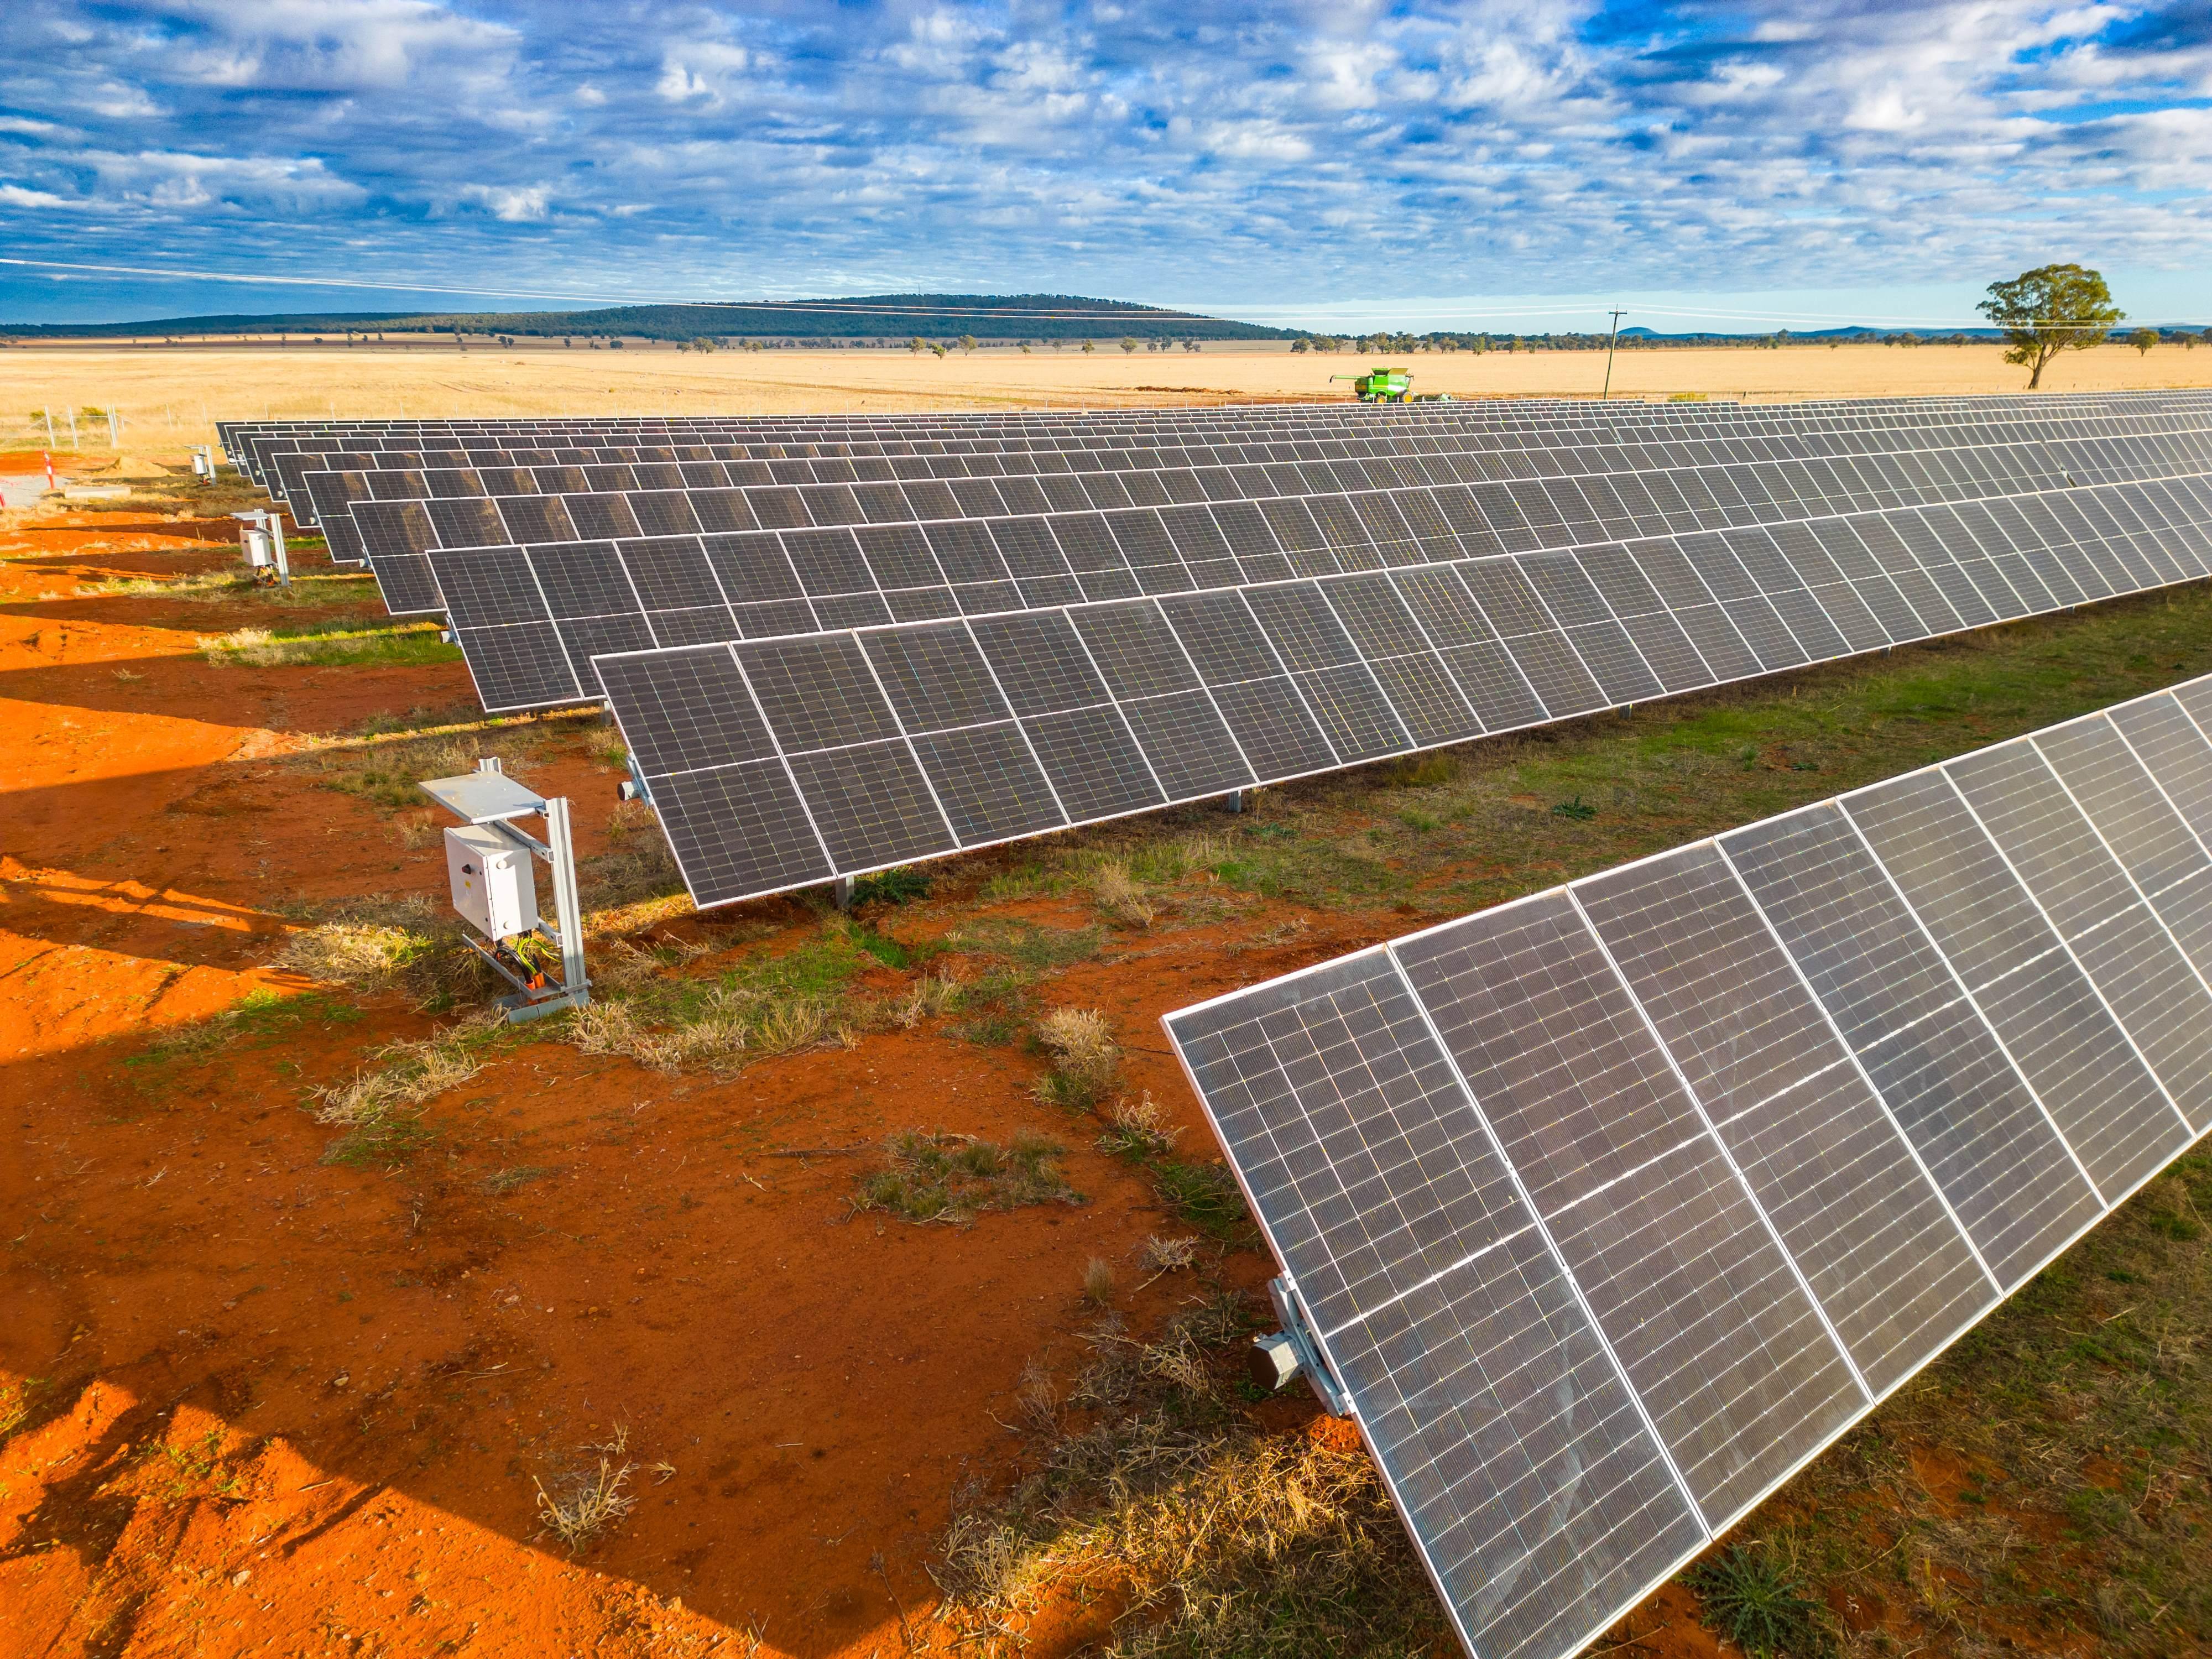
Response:
[[[2208,164],[2208,0],[0,4],[0,257],[44,261],[0,263],[4,321],[1042,290],[1816,327],[2079,259],[2212,323]]]

